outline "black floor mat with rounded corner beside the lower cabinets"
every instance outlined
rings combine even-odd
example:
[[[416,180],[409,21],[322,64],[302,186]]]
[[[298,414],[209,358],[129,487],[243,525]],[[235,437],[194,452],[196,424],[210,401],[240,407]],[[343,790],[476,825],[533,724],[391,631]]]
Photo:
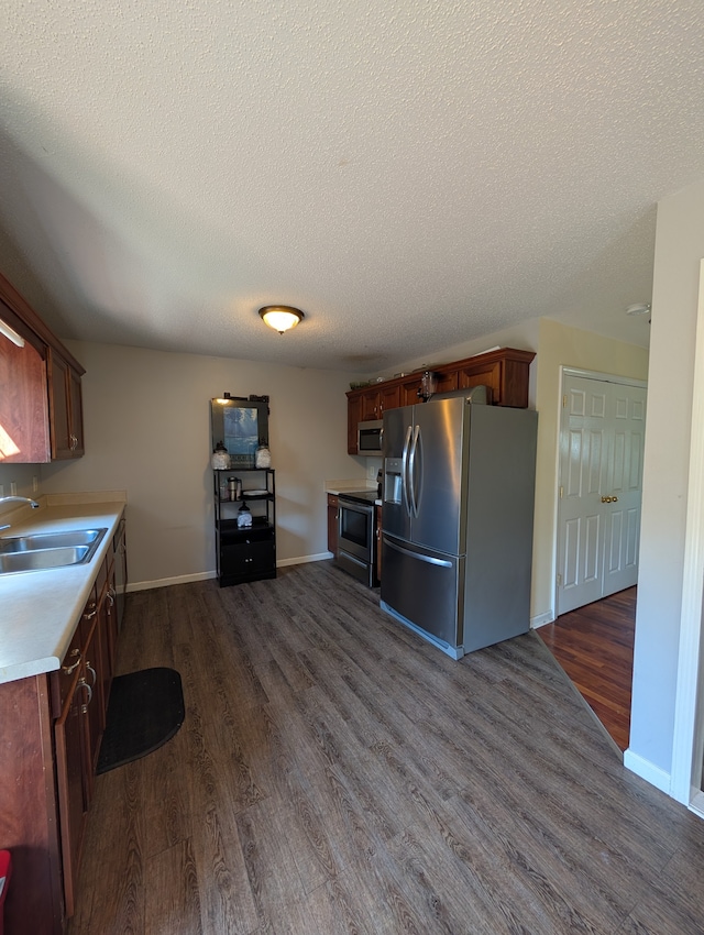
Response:
[[[98,772],[139,760],[176,734],[185,717],[175,669],[143,669],[112,680]]]

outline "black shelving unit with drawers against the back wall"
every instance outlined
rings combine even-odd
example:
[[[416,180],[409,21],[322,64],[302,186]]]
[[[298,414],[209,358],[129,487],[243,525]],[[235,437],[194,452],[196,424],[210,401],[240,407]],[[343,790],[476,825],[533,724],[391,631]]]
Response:
[[[276,578],[276,476],[272,468],[213,470],[216,556],[220,587]],[[228,477],[242,481],[242,496],[230,499]],[[252,526],[238,527],[242,503]]]

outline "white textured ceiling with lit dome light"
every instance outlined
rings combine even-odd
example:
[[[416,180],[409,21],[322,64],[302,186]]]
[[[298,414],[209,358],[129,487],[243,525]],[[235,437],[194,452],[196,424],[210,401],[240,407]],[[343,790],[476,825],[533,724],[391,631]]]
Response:
[[[701,0],[2,7],[0,272],[61,337],[360,372],[541,315],[647,344]]]

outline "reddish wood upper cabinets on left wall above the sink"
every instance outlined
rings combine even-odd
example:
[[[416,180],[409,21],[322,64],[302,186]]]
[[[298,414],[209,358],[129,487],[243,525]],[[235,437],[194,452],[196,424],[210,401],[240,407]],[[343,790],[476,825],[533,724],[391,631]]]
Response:
[[[0,464],[40,464],[84,452],[80,378],[85,370],[0,275]]]

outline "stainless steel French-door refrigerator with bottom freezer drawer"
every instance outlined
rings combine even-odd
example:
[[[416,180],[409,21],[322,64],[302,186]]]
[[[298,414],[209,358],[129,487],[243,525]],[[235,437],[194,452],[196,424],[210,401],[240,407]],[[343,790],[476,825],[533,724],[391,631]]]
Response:
[[[530,617],[538,416],[477,396],[384,414],[381,606],[453,659]]]

